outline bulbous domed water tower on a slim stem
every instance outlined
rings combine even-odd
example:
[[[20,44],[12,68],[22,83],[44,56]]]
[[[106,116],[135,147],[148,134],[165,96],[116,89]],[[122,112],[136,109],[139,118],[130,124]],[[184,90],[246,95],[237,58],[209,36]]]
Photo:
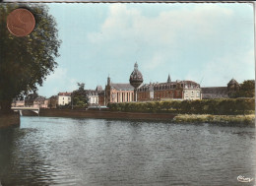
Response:
[[[134,87],[134,100],[137,101],[137,89],[143,83],[142,73],[138,70],[137,62],[134,65],[134,71],[130,76],[130,84]]]

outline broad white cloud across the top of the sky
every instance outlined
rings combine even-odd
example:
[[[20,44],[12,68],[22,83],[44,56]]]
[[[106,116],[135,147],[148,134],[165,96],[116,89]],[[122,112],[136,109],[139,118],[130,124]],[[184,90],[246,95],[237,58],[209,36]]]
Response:
[[[139,39],[148,44],[170,45],[179,37],[195,39],[215,34],[217,26],[232,16],[230,9],[218,5],[201,5],[161,12],[157,17],[147,17],[125,4],[110,5],[109,15],[100,31],[90,33],[93,43],[119,39]]]

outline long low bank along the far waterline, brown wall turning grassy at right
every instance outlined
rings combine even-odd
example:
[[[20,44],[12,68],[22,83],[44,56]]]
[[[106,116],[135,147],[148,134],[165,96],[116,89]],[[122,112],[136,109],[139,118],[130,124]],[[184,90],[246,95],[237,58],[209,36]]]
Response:
[[[27,116],[28,114],[24,114]],[[30,114],[29,114],[30,115]],[[34,114],[30,115],[34,116]],[[98,110],[69,110],[69,109],[40,109],[39,116],[94,118],[94,119],[124,119],[144,121],[167,121],[170,123],[213,123],[213,124],[242,124],[255,126],[255,115],[211,115],[211,114],[170,114],[142,113]]]

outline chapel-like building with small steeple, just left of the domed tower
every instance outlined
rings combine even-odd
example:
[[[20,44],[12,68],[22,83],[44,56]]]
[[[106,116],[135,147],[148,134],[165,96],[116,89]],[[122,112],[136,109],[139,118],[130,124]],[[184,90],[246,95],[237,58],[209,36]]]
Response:
[[[105,104],[131,101],[134,101],[134,88],[130,84],[113,84],[108,77],[105,86]]]

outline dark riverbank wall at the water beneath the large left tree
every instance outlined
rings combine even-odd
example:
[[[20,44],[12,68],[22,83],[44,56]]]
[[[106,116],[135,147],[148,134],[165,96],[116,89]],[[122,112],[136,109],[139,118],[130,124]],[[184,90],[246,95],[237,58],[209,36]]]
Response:
[[[20,126],[20,114],[0,114],[0,128]]]

